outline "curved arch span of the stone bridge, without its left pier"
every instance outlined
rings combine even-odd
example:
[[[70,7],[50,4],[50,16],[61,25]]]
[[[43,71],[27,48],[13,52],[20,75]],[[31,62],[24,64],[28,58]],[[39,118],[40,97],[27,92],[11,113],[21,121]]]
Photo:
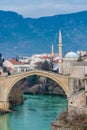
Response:
[[[9,81],[9,84],[7,86],[8,89],[6,92],[6,95],[7,95],[6,100],[8,101],[9,93],[11,92],[12,88],[18,81],[20,81],[26,77],[33,76],[33,75],[44,76],[44,77],[52,79],[53,81],[55,81],[56,83],[58,83],[60,85],[60,87],[64,90],[67,97],[69,97],[70,94],[69,94],[69,89],[68,89],[68,78],[67,77],[58,75],[53,72],[34,70],[34,71],[28,71],[28,72],[11,75],[11,76],[7,77],[7,81]]]

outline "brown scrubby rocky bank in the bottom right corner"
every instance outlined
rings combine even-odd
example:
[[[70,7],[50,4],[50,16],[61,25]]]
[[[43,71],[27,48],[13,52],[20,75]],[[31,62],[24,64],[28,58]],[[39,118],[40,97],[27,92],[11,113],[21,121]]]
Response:
[[[55,122],[51,123],[51,130],[87,130],[87,116],[75,115],[70,119],[67,112],[62,113]]]

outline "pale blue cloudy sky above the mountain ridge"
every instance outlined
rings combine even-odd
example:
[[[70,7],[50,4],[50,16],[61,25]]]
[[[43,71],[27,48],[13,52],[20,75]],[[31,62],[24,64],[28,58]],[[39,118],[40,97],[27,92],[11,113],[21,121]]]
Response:
[[[38,18],[87,10],[87,0],[0,0],[0,10]]]

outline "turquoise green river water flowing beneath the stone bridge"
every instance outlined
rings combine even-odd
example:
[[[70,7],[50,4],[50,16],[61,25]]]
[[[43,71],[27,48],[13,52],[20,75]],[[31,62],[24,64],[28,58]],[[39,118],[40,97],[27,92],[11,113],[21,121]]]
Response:
[[[67,108],[67,100],[59,96],[25,96],[24,104],[0,117],[0,130],[50,130],[50,123]]]

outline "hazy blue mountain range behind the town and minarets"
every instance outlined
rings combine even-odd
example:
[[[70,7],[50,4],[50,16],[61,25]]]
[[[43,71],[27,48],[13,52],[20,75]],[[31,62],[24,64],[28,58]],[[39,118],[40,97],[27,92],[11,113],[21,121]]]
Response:
[[[87,11],[41,18],[24,18],[0,11],[0,52],[5,57],[58,51],[58,32],[63,35],[63,52],[87,50]]]

